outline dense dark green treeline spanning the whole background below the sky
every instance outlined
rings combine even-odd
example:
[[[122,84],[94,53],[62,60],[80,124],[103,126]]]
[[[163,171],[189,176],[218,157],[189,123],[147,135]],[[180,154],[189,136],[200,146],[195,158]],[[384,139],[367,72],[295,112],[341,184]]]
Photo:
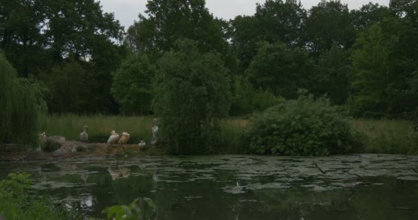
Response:
[[[0,48],[51,113],[171,114],[155,101],[167,99],[164,87],[183,93],[167,102],[209,97],[215,108],[206,112],[220,116],[262,111],[307,89],[357,117],[414,117],[417,0],[356,10],[267,0],[230,21],[205,4],[148,1],[125,31],[95,0],[1,0]]]

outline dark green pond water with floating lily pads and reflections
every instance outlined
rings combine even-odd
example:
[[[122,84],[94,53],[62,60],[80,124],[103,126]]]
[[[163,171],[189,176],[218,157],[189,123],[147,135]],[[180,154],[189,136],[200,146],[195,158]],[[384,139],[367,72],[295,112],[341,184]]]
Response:
[[[418,219],[415,170],[417,156],[370,154],[0,162],[0,178],[28,171],[36,195],[86,216],[149,197],[159,219]]]

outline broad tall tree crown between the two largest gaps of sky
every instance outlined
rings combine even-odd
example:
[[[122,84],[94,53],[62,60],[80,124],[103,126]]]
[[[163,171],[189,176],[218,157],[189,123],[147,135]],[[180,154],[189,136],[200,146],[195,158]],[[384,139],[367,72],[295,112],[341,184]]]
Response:
[[[146,15],[139,15],[128,30],[125,43],[133,52],[161,54],[177,39],[197,42],[201,52],[215,50],[225,54],[221,23],[205,7],[205,0],[155,0],[146,4]]]

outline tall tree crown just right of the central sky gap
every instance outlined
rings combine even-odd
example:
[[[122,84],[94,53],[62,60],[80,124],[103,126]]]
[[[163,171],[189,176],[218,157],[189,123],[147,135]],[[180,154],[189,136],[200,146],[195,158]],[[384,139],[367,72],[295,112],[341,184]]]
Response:
[[[303,45],[303,23],[307,13],[296,0],[267,0],[256,5],[254,16],[237,16],[230,21],[232,51],[243,72],[257,52],[257,43],[281,42],[289,46]]]

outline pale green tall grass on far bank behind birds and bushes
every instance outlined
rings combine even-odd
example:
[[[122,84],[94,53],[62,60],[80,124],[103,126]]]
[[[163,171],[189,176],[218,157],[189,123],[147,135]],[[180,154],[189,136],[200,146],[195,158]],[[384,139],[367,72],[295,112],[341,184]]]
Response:
[[[89,142],[106,142],[110,132],[128,132],[130,143],[140,140],[149,142],[153,118],[124,117],[121,115],[48,115],[41,122],[41,131],[47,135],[63,135],[69,140],[78,140],[83,126],[89,126]],[[230,118],[221,126],[221,150],[219,153],[244,153],[245,142],[241,133],[248,120]],[[358,131],[363,143],[362,153],[418,154],[418,138],[412,123],[404,120],[353,120],[354,131]]]

